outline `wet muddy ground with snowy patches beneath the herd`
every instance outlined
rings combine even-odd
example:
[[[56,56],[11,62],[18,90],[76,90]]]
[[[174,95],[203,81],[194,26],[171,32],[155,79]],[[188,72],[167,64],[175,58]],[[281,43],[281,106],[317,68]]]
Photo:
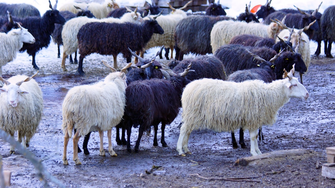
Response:
[[[151,57],[157,49],[149,50],[145,57]],[[56,51],[56,45],[51,44],[36,56],[41,70],[35,79],[42,88],[45,109],[29,150],[44,160],[46,169],[65,187],[335,187],[334,179],[321,176],[321,165],[327,162],[326,147],[335,146],[334,59],[325,58],[324,55],[312,58],[309,72],[304,75],[304,85],[310,98],[307,101],[291,99],[279,111],[277,122],[271,127],[263,127],[265,140],[259,143],[263,153],[305,149],[308,152],[304,155],[262,160],[246,167],[235,166],[237,159],[250,156],[248,133],[245,133],[247,149],[232,149],[230,133],[198,130],[191,133],[189,140],[189,149],[193,154],[180,157],[176,151],[179,137],[177,126],[181,121],[178,116],[165,129],[168,147],[160,144],[153,147],[152,131],[142,137],[139,153],[128,153],[125,146],[116,144],[113,129],[112,144],[117,157],[111,157],[108,152],[106,157],[99,156],[99,137],[93,133],[88,144],[90,154],[79,154],[82,165],[75,166],[72,161],[70,139],[69,165],[64,166],[64,134],[61,129],[63,98],[69,88],[83,81],[104,78],[109,69],[100,61],[111,63],[113,58],[92,54],[84,60],[86,74],[77,76],[77,65],[69,64],[68,60],[68,71],[62,71],[61,59],[56,58]],[[25,52],[19,53],[14,62],[3,67],[5,78],[15,74],[32,75],[35,72],[31,57]],[[133,128],[132,133],[133,148],[137,129]],[[160,132],[158,134],[160,139]],[[107,151],[106,135],[104,148]],[[79,141],[80,145],[82,141],[83,138]],[[0,146],[3,167],[12,171],[11,187],[43,187],[29,161],[18,152],[9,155],[9,144],[1,139]],[[153,166],[159,168],[151,170]],[[150,171],[150,174],[146,173]],[[207,180],[191,174],[218,179]],[[240,182],[222,180],[246,177],[245,181]],[[53,183],[50,185],[55,187]]]

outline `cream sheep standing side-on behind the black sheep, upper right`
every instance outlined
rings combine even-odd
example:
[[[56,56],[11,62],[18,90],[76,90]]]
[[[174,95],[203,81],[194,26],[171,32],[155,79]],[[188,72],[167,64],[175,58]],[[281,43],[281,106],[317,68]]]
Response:
[[[243,34],[256,35],[264,38],[274,38],[282,30],[278,23],[270,25],[255,22],[241,22],[233,20],[219,21],[214,24],[210,33],[212,53],[220,46],[228,44],[232,37]]]

